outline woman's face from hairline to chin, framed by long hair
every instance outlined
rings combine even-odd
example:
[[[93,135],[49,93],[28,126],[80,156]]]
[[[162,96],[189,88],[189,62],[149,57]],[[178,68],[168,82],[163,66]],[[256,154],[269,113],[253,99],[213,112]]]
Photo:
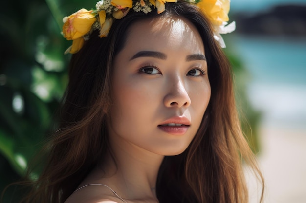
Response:
[[[182,153],[200,126],[211,94],[196,28],[176,17],[137,22],[113,68],[108,124],[112,146]]]

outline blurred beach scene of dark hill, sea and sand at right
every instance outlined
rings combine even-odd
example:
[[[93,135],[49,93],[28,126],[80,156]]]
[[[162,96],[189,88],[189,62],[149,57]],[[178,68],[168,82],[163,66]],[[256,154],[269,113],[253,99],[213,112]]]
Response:
[[[248,71],[247,98],[261,112],[265,202],[306,203],[306,0],[232,0],[231,14],[237,31],[227,44]],[[251,203],[254,183],[249,178]]]

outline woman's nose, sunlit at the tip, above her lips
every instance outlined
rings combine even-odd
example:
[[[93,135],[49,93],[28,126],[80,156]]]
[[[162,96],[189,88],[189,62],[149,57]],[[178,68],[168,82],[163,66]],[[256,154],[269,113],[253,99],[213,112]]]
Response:
[[[167,83],[167,86],[168,92],[164,97],[164,105],[166,107],[188,107],[191,104],[190,97],[181,78],[173,79],[170,83]]]

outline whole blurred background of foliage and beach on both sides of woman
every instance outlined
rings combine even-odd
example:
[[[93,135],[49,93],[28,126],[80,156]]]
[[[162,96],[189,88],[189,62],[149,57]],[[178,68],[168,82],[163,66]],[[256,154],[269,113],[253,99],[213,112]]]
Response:
[[[62,18],[96,1],[1,2],[0,191],[22,178],[56,127],[71,45],[61,35]],[[225,52],[241,124],[266,179],[265,202],[306,203],[306,0],[232,0],[233,20]],[[256,181],[247,178],[256,203]],[[3,203],[17,202],[13,190]]]

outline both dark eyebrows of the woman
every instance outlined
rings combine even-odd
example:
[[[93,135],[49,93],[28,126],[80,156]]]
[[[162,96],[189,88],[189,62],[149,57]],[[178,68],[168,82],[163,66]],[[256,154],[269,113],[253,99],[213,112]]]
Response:
[[[167,55],[165,55],[162,52],[140,51],[140,52],[137,52],[135,55],[133,55],[131,57],[130,61],[135,59],[135,58],[139,58],[139,57],[153,57],[153,58],[158,58],[158,59],[162,59],[162,60],[167,59]],[[193,54],[193,55],[187,55],[186,56],[186,61],[194,61],[194,60],[205,60],[206,61],[206,57],[205,57],[205,55],[202,55],[202,54]]]

